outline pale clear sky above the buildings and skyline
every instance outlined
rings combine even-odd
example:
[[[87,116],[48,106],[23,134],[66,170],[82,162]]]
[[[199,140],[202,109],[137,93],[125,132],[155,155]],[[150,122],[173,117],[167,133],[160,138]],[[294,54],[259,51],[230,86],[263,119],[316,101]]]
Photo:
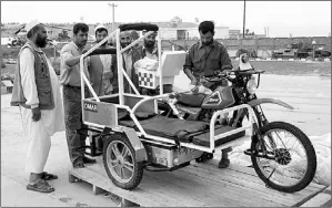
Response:
[[[243,28],[244,1],[1,1],[1,22],[183,22],[213,20],[230,30]],[[331,1],[247,1],[245,29],[270,37],[331,34]]]

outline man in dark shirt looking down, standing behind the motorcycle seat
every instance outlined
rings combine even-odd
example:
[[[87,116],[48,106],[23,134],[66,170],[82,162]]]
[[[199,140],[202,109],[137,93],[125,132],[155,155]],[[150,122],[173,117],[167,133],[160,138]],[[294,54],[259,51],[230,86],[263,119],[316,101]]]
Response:
[[[190,79],[191,84],[199,86],[201,76],[213,75],[215,71],[232,70],[232,62],[225,48],[213,40],[214,23],[203,21],[199,25],[200,41],[193,44],[187,54],[183,71]],[[225,81],[224,86],[228,85]],[[222,158],[219,162],[220,168],[227,168],[230,165],[228,153],[232,148],[222,149]]]

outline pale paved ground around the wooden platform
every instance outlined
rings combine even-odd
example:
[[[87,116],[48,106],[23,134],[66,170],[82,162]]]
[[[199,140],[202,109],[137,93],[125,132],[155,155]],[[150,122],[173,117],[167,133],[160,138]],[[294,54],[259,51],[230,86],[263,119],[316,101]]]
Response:
[[[178,86],[188,83],[183,80]],[[263,75],[259,97],[276,97],[298,107],[290,112],[279,106],[266,105],[270,119],[295,124],[310,136],[331,133],[331,79],[319,76]],[[92,194],[92,186],[68,183],[70,168],[64,132],[52,138],[52,148],[46,166],[47,171],[59,175],[51,181],[52,194],[26,190],[27,174],[24,159],[27,139],[23,136],[19,110],[9,106],[11,95],[1,95],[1,206],[93,206],[112,207],[118,204],[112,198]],[[18,200],[18,196],[20,196]]]

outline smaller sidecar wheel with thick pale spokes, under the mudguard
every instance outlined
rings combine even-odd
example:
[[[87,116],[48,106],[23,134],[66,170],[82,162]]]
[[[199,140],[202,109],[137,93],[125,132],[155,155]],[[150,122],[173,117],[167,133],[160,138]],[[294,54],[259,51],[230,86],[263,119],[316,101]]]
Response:
[[[108,136],[104,139],[102,158],[104,169],[115,186],[131,190],[141,183],[143,163],[135,160],[135,152],[127,137],[117,134]]]

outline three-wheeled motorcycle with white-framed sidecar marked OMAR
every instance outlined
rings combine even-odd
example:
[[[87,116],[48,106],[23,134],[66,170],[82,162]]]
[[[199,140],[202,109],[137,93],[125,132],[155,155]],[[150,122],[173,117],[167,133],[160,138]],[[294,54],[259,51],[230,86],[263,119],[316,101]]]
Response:
[[[122,49],[120,32],[129,30],[144,30],[148,32]],[[291,179],[288,185],[280,184],[281,180],[274,179],[274,176],[271,177],[274,170],[264,170],[264,168],[273,169],[273,167],[268,167],[266,163],[260,163],[260,159],[270,159],[274,162],[274,166],[275,164],[283,166],[289,165],[292,158],[290,149],[276,147],[280,143],[273,141],[275,139],[272,135],[274,132],[269,132],[270,128],[264,132],[264,135],[261,132],[262,126],[258,121],[261,112],[253,108],[253,106],[261,104],[260,102],[255,102],[253,105],[248,103],[234,104],[232,94],[234,90],[231,87],[217,87],[212,95],[192,100],[192,102],[200,101],[198,106],[187,108],[190,112],[212,107],[213,111],[208,121],[200,118],[187,119],[188,117],[179,112],[174,102],[179,93],[163,93],[163,87],[160,86],[173,84],[174,76],[183,67],[187,53],[184,51],[164,51],[162,53],[160,35],[157,37],[158,70],[138,69],[140,86],[159,87],[159,94],[155,96],[141,95],[123,69],[122,53],[135,46],[139,41],[153,32],[159,32],[159,28],[150,23],[119,25],[114,32],[91,48],[80,60],[81,85],[85,84],[92,94],[91,97],[84,97],[84,87],[81,87],[82,117],[83,123],[89,126],[88,135],[90,141],[90,146],[87,147],[90,148],[90,152],[85,152],[85,154],[90,156],[102,155],[104,169],[115,186],[123,189],[133,189],[140,184],[144,169],[172,171],[188,166],[192,162],[204,162],[211,158],[213,153],[242,144],[244,139],[253,141],[248,154],[254,160],[254,169],[266,185],[290,193],[303,189],[309,185],[315,171],[315,164],[305,164],[308,166],[305,174],[300,178]],[[99,49],[113,35],[115,35],[117,41],[115,48]],[[119,93],[98,96],[93,91],[83,73],[83,59],[95,54],[117,54]],[[254,73],[247,72],[247,76]],[[124,81],[129,83],[134,94],[124,92]],[[245,84],[247,82],[248,80]],[[165,113],[165,110],[161,110],[161,103],[165,103],[172,113],[169,114]],[[284,104],[284,106],[288,105]],[[220,118],[225,113],[232,112],[242,112],[242,115],[247,117],[247,122],[242,123],[241,121],[241,125],[221,125]],[[268,144],[263,137],[269,137],[270,143]],[[302,141],[301,138],[300,142],[302,143]],[[269,145],[272,145],[272,147]],[[309,157],[312,158],[313,156],[310,152],[314,153],[314,150],[308,144],[304,146],[308,160],[311,160]],[[315,155],[312,160],[315,162]],[[265,173],[272,174],[266,175]]]

